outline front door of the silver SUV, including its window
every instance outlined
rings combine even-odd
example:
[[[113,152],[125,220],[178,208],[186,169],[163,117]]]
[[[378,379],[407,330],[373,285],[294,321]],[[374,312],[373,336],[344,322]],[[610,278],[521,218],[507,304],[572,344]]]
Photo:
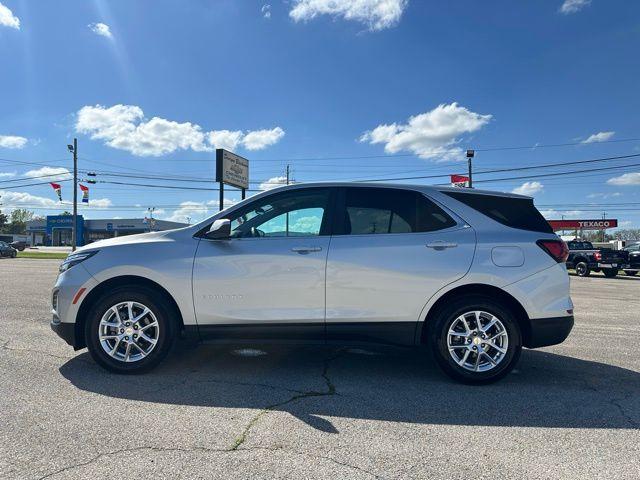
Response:
[[[331,193],[261,197],[229,214],[229,239],[200,240],[193,295],[201,334],[324,341]]]

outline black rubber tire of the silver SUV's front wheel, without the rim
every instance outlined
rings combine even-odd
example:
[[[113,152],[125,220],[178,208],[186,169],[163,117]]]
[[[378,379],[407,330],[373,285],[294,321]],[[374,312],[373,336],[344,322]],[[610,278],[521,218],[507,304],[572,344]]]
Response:
[[[112,306],[128,301],[140,303],[151,310],[158,322],[158,338],[155,347],[144,358],[125,363],[122,360],[113,358],[103,349],[98,338],[98,332],[103,315]],[[126,312],[123,313],[124,317],[126,315]],[[173,347],[178,332],[178,320],[175,317],[175,312],[171,306],[157,292],[139,286],[119,287],[100,297],[91,308],[85,324],[87,348],[95,362],[111,372],[123,374],[147,372],[158,366]]]

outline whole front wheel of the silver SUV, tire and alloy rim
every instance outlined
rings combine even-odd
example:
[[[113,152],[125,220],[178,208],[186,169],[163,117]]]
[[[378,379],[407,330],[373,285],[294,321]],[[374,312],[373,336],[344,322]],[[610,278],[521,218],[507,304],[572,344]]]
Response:
[[[141,287],[103,295],[85,325],[87,348],[100,366],[116,373],[143,373],[169,353],[176,320],[167,302]]]

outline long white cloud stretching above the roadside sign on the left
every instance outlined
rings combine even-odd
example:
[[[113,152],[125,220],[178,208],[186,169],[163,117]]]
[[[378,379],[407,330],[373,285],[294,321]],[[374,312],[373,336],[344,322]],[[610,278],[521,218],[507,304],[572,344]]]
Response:
[[[78,111],[76,130],[103,140],[108,146],[139,156],[160,156],[176,150],[233,150],[243,145],[248,150],[261,150],[277,143],[284,130],[212,130],[203,132],[199,125],[174,122],[160,117],[147,120],[135,105],[84,106]]]

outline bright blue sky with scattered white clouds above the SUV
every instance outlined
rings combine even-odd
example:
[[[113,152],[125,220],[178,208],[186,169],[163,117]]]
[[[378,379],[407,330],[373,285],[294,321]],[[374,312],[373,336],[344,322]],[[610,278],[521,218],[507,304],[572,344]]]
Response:
[[[638,2],[0,2],[3,211],[69,208],[23,185],[64,180],[74,136],[101,182],[191,188],[215,188],[215,147],[251,160],[255,189],[287,164],[351,180],[464,173],[466,148],[478,172],[640,154]],[[528,148],[492,149],[511,146]],[[476,180],[549,217],[640,227],[640,157]],[[217,198],[98,183],[81,213],[197,221]]]

